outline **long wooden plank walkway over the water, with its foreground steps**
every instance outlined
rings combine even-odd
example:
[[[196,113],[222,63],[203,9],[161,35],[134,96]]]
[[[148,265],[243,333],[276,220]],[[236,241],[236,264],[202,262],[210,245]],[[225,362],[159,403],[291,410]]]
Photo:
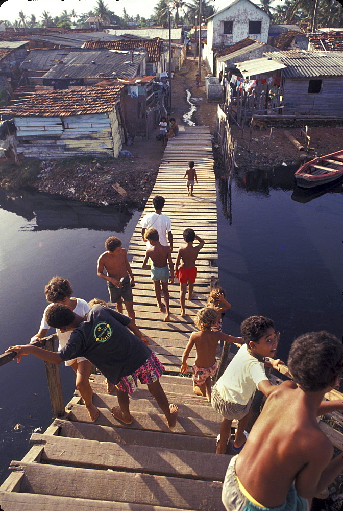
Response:
[[[195,161],[199,179],[192,198],[182,179],[189,160]],[[157,194],[165,197],[163,213],[171,217],[174,260],[185,228],[194,228],[206,242],[197,263],[197,299],[186,301],[187,316],[181,318],[179,285],[170,286],[171,321],[165,323],[156,307],[150,271],[141,269],[145,243],[139,225],[131,239],[137,324],[167,371],[179,374],[192,319],[206,305],[211,281],[217,280],[216,192],[208,128],[185,127],[170,141],[142,215],[152,211],[151,199]],[[193,360],[192,353],[189,365]],[[191,379],[161,378],[169,402],[179,406],[173,431],[146,387],[132,396],[134,421],[126,426],[110,413],[118,402],[106,393],[103,377],[91,375],[90,380],[99,418],[90,423],[75,391],[66,413],[43,434],[32,434],[33,448],[21,461],[12,461],[12,473],[0,487],[4,511],[225,511],[221,493],[230,456],[215,454],[220,416],[205,398],[194,396]]]

